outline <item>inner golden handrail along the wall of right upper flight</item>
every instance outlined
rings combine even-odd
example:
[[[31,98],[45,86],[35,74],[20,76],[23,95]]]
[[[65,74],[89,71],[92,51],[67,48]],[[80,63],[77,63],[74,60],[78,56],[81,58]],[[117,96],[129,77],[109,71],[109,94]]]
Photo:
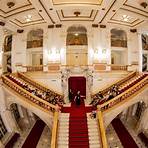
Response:
[[[136,71],[133,71],[133,72],[129,73],[126,77],[121,78],[121,79],[119,79],[119,80],[117,80],[117,81],[114,81],[113,83],[109,84],[109,85],[106,86],[105,88],[100,89],[99,91],[101,91],[102,94],[105,94],[105,93],[107,93],[107,92],[110,90],[110,88],[111,88],[113,85],[115,85],[115,84],[116,84],[116,85],[121,85],[122,83],[126,82],[126,81],[129,80],[130,78],[134,77],[136,74],[137,74],[137,72],[136,72]],[[98,93],[98,91],[95,92],[95,93],[93,93],[92,96],[94,96],[94,95],[97,94],[97,93]]]

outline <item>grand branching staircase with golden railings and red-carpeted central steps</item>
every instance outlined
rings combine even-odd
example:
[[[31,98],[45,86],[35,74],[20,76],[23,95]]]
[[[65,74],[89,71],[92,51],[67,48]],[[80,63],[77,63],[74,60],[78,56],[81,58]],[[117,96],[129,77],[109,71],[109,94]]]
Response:
[[[25,89],[23,83],[28,83],[31,87],[35,87],[36,89],[39,89],[41,91],[50,91],[52,95],[55,94],[60,98],[63,98],[61,94],[49,90],[41,84],[33,81],[29,77],[26,77],[22,73],[12,75],[13,77],[10,77],[8,75],[2,76],[2,87],[4,88],[4,90],[9,90],[11,92],[11,95],[17,95],[19,99],[27,101],[28,103],[30,103],[30,105],[32,105],[32,107],[36,107],[42,112],[46,112],[47,114],[50,113],[52,115],[52,148],[55,148],[56,146],[58,148],[107,147],[103,146],[105,142],[102,135],[105,135],[105,130],[103,129],[103,124],[100,122],[102,120],[100,119],[100,116],[98,116],[99,120],[93,120],[89,118],[88,114],[85,114],[85,117],[83,116],[84,118],[82,119],[81,117],[70,116],[70,114],[68,113],[58,113],[59,108],[57,108],[56,105],[49,103],[46,99],[42,99],[41,97],[30,93],[28,90]],[[148,74],[139,74],[137,72],[132,72],[127,77],[115,82],[114,84],[117,84],[119,86],[121,93],[115,98],[100,104],[98,106],[99,112],[106,113],[107,111],[111,111],[111,109],[113,108],[115,109],[117,106],[122,106],[123,103],[131,101],[136,95],[141,93],[141,91],[147,89]],[[102,93],[105,95],[114,84],[111,84],[109,87],[101,90]],[[95,95],[96,94],[93,94],[92,98]],[[56,112],[59,115],[54,118]]]

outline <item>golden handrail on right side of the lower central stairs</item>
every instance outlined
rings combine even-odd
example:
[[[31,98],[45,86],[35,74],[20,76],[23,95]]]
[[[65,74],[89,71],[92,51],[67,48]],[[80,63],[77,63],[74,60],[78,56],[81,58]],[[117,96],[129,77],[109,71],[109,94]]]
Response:
[[[102,112],[100,111],[100,109],[97,111],[97,116],[98,116],[98,126],[99,126],[100,138],[101,138],[101,147],[107,148],[106,132],[104,128]]]

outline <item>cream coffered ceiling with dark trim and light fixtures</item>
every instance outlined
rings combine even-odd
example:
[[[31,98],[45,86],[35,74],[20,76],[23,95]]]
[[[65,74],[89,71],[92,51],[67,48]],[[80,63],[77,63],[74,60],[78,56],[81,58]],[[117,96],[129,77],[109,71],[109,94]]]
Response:
[[[70,21],[137,27],[148,22],[148,6],[142,2],[148,4],[148,0],[0,0],[0,21],[18,28]]]

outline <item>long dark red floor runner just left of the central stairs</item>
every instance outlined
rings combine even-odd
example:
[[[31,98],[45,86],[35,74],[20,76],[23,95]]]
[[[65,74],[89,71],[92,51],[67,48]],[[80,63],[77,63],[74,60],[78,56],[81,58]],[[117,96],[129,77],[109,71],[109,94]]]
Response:
[[[42,120],[37,120],[22,148],[36,148],[44,127],[45,123]]]

